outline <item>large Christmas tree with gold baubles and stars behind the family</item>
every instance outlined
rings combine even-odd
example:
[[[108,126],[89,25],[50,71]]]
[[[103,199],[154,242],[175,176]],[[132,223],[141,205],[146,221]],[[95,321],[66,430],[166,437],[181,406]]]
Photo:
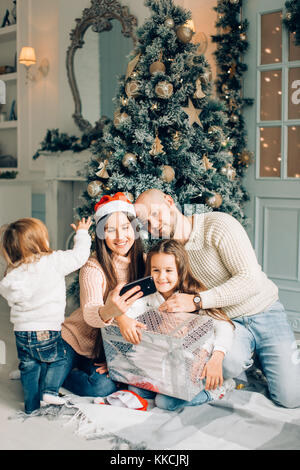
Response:
[[[78,215],[91,215],[103,194],[122,191],[135,201],[158,188],[181,207],[200,204],[244,223],[247,194],[233,167],[235,142],[225,105],[212,97],[210,66],[192,42],[191,14],[173,0],[145,3],[152,16],[137,30],[113,122],[92,146]]]

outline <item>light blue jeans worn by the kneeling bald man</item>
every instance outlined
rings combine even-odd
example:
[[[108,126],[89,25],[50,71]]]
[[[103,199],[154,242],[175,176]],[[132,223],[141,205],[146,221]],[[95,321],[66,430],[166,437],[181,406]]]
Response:
[[[224,378],[247,370],[255,352],[270,398],[286,408],[300,407],[300,360],[283,305],[277,301],[264,312],[236,318],[234,324],[232,348],[223,362]]]

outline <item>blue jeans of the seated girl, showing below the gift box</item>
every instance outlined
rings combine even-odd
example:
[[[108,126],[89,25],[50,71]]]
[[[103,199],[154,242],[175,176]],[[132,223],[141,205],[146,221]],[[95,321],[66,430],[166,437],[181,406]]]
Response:
[[[168,411],[175,411],[184,406],[198,406],[203,405],[203,403],[208,403],[212,401],[212,398],[209,392],[202,390],[198,395],[196,395],[191,401],[181,400],[180,398],[169,397],[168,395],[162,395],[160,393],[152,392],[151,390],[145,390],[143,388],[134,387],[133,385],[128,385],[128,390],[137,393],[142,398],[153,399],[155,398],[155,405],[158,408]]]

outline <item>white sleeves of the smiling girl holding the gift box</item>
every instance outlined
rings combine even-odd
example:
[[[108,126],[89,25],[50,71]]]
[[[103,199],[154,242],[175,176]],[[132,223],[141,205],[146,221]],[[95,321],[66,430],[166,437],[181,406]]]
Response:
[[[159,307],[165,299],[159,292],[141,297],[127,310],[126,315],[130,318],[137,318],[145,313],[149,308]],[[202,349],[211,354],[213,351],[222,351],[226,354],[232,345],[234,329],[233,326],[224,320],[212,318],[214,334],[203,344]]]

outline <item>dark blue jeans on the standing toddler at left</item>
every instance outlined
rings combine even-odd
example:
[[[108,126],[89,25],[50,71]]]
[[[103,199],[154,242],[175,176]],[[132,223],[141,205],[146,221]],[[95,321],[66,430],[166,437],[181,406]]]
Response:
[[[60,331],[15,331],[25,413],[40,408],[43,393],[58,395],[66,364]]]

